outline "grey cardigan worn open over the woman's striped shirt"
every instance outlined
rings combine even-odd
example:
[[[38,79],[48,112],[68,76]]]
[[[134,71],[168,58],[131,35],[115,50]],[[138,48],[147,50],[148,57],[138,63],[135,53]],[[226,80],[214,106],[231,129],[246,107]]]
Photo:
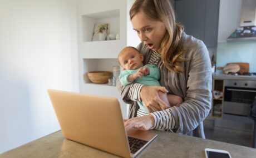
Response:
[[[183,73],[170,72],[160,61],[158,67],[161,71],[160,84],[169,93],[184,98],[180,106],[171,107],[174,119],[178,127],[176,133],[205,138],[203,121],[211,108],[211,65],[209,53],[204,43],[193,36],[183,33],[183,57],[188,59],[182,63]],[[140,43],[137,47],[144,55],[144,64],[149,62],[152,50]],[[138,83],[135,83],[138,84]],[[130,87],[122,86],[117,81],[117,88],[124,102],[131,104],[129,118],[135,117],[138,110],[136,102],[130,100]],[[139,92],[138,92],[139,93]]]

